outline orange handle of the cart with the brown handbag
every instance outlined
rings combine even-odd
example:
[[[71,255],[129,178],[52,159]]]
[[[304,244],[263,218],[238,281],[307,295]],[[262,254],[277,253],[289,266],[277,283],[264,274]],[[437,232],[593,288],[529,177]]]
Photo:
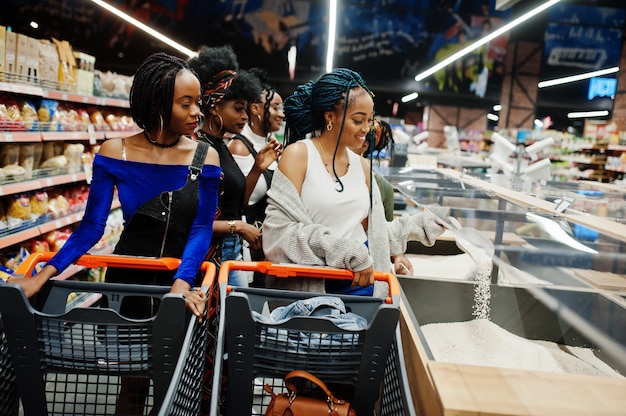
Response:
[[[228,274],[231,270],[255,271],[276,277],[312,277],[320,279],[352,280],[354,272],[347,269],[336,269],[325,266],[304,266],[301,264],[272,263],[270,261],[237,261],[227,260],[220,266],[218,279],[220,283],[228,283]],[[374,279],[386,282],[389,286],[389,296],[400,296],[400,283],[391,273],[374,272]]]

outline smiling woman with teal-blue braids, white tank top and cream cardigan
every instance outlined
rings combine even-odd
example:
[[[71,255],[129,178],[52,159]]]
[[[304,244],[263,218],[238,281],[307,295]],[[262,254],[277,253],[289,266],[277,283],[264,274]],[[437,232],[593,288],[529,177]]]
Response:
[[[285,99],[285,149],[268,191],[263,251],[275,263],[348,269],[354,278],[268,276],[267,286],[384,296],[374,270],[391,271],[389,255],[404,252],[408,240],[433,245],[443,232],[421,214],[387,223],[375,181],[370,198],[370,164],[350,149],[361,148],[371,132],[372,96],[358,73],[339,68]]]

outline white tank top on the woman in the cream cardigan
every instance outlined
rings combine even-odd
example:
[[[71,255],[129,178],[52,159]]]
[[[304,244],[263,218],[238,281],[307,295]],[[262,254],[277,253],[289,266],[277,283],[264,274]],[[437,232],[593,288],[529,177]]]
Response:
[[[367,235],[361,222],[369,213],[369,191],[361,166],[361,156],[348,150],[350,167],[340,177],[343,192],[324,164],[315,144],[302,140],[308,150],[307,168],[300,197],[314,223],[330,229],[333,235],[365,242]]]

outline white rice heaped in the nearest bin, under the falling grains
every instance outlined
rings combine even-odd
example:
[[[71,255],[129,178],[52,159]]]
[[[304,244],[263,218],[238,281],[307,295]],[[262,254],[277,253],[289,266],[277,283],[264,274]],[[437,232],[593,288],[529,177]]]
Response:
[[[435,361],[551,373],[622,377],[588,348],[531,341],[488,319],[420,327]]]

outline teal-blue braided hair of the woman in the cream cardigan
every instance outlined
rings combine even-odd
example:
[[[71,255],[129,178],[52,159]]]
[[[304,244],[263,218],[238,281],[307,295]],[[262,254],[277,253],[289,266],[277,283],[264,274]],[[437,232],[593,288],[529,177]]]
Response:
[[[337,68],[322,75],[317,81],[299,85],[296,91],[284,101],[285,111],[285,146],[302,140],[307,134],[324,128],[324,113],[337,111],[343,106],[343,116],[339,127],[337,142],[333,152],[333,174],[339,183],[338,192],[343,192],[343,183],[335,171],[335,158],[339,148],[339,138],[346,121],[346,111],[353,102],[350,92],[362,88],[368,94],[365,81],[358,72],[347,68]]]

